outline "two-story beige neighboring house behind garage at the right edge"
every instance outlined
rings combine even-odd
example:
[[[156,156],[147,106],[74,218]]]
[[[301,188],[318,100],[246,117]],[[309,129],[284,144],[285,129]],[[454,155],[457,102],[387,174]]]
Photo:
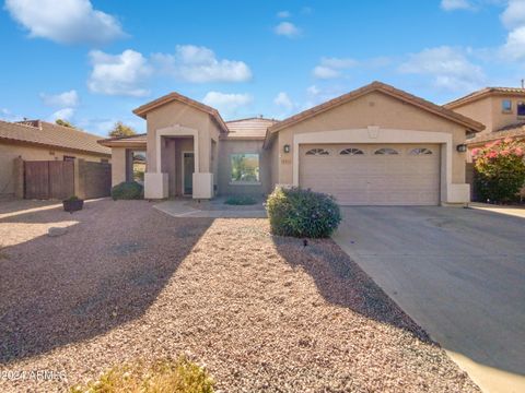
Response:
[[[471,163],[470,151],[475,147],[504,138],[525,140],[525,88],[486,87],[444,107],[486,127],[485,131],[467,139],[468,163]]]

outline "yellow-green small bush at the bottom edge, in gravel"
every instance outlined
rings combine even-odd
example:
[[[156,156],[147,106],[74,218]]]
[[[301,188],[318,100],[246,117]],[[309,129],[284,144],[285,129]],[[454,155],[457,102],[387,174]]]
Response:
[[[213,379],[184,357],[115,367],[96,381],[71,388],[71,393],[212,393]]]

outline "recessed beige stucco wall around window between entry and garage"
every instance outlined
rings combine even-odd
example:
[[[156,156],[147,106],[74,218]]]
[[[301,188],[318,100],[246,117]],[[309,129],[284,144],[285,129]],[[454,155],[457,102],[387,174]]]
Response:
[[[271,154],[262,148],[262,141],[222,140],[219,144],[219,193],[220,194],[266,194],[271,189]],[[259,155],[260,184],[232,184],[231,155],[256,153]]]

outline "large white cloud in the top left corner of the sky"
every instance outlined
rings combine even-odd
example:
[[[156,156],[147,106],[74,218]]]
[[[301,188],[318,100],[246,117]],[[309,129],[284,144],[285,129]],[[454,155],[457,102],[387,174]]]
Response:
[[[102,44],[126,36],[120,23],[93,9],[90,0],[7,0],[5,9],[30,37],[61,44]]]

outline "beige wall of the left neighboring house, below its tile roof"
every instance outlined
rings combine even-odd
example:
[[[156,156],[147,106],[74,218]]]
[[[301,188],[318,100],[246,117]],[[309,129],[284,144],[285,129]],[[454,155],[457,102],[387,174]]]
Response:
[[[13,159],[20,156],[24,160],[62,160],[63,156],[72,156],[96,163],[104,158],[97,155],[80,154],[57,148],[0,142],[0,195],[13,194]]]

